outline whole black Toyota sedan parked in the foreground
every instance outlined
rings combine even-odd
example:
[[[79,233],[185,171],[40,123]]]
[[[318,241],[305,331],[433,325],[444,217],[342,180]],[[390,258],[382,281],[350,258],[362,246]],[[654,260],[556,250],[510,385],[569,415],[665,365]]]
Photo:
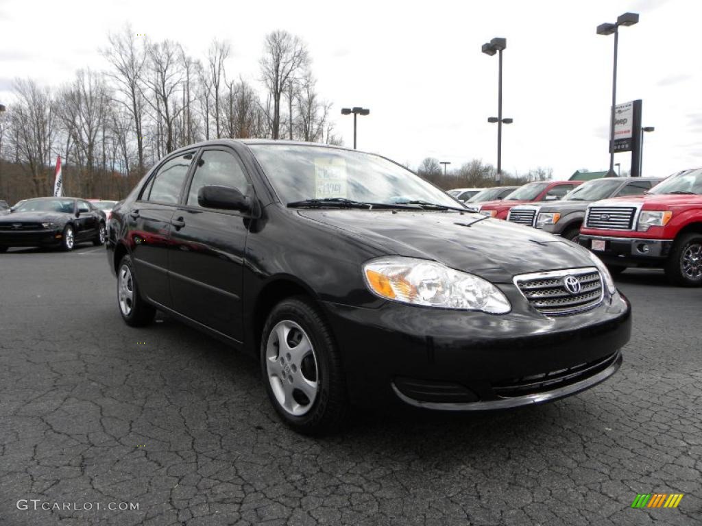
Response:
[[[128,325],[156,309],[258,356],[286,424],[351,404],[492,410],[616,372],[630,306],[600,259],[456,208],[383,157],[217,140],[169,154],[113,210]]]

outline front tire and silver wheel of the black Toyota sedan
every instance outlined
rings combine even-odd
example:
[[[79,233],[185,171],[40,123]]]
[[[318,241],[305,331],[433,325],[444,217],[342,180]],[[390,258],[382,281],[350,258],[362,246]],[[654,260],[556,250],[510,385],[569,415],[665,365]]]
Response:
[[[331,328],[309,299],[284,299],[263,328],[265,391],[282,421],[298,433],[340,429],[349,412],[346,379]]]

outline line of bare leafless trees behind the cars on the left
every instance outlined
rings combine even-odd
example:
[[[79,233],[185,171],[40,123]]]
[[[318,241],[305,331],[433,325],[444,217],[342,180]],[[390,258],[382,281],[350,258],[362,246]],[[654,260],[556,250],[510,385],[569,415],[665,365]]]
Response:
[[[340,144],[300,37],[265,36],[260,79],[227,69],[231,51],[214,39],[196,58],[127,25],[100,49],[104,70],[79,69],[58,87],[16,79],[0,112],[0,198],[51,195],[58,155],[64,195],[119,199],[161,156],[200,140]]]

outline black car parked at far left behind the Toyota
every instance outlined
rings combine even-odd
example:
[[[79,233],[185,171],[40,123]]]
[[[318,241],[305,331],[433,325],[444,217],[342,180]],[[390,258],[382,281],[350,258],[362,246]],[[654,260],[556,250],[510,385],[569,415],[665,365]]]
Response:
[[[0,216],[0,252],[9,247],[72,250],[76,243],[105,243],[105,213],[84,199],[25,199]]]

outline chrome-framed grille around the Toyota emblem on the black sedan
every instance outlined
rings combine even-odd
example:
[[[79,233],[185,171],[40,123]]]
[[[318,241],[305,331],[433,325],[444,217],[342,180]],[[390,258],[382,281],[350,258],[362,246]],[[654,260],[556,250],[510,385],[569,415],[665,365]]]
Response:
[[[575,278],[576,292],[566,288],[566,278]],[[521,274],[515,285],[534,309],[550,316],[575,314],[602,302],[602,277],[595,267]]]

